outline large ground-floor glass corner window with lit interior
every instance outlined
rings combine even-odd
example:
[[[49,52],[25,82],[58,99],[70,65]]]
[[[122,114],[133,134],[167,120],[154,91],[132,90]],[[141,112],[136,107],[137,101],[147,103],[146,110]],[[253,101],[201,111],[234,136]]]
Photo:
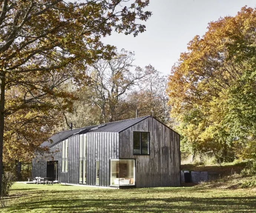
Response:
[[[110,160],[110,185],[135,185],[135,159]]]

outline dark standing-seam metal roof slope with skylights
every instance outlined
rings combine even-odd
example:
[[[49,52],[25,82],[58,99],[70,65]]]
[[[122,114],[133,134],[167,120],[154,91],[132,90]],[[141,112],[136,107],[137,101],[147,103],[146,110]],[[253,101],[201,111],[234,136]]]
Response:
[[[143,117],[137,117],[133,119],[127,119],[127,120],[120,120],[116,122],[110,122],[110,123],[104,123],[94,126],[87,126],[82,127],[79,129],[73,129],[73,130],[66,130],[62,132],[58,132],[51,136],[47,141],[43,142],[41,146],[48,146],[52,147],[56,143],[59,143],[69,137],[72,137],[76,134],[82,134],[87,132],[113,132],[113,133],[119,133],[122,132],[129,127],[141,122],[142,120],[151,117],[151,116],[143,116]]]

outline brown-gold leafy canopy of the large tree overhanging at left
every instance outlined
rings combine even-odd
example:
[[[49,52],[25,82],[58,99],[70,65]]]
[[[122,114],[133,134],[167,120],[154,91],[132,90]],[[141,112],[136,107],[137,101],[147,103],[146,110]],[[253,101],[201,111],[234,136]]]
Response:
[[[87,84],[88,64],[114,56],[115,47],[101,37],[112,30],[137,36],[151,12],[144,11],[149,0],[0,2],[1,187],[3,144],[13,156],[37,147],[35,139],[46,138],[59,113],[72,109],[66,81]]]

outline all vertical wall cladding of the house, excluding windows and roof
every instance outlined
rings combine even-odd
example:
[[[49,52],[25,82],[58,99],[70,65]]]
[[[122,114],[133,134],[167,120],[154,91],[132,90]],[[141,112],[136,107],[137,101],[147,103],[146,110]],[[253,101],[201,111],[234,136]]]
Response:
[[[99,129],[100,130],[100,129]],[[133,155],[133,132],[150,132],[150,155]],[[46,177],[47,160],[58,161],[58,181],[79,183],[79,135],[68,139],[68,172],[62,172],[62,143],[50,148],[50,157],[37,154],[32,177]],[[86,184],[109,186],[110,159],[136,159],[136,187],[180,186],[180,136],[148,117],[121,133],[86,133]]]

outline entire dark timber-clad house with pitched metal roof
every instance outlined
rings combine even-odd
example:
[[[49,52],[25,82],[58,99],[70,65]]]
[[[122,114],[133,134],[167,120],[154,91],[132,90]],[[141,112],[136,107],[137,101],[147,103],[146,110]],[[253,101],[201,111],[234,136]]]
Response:
[[[152,116],[59,132],[32,177],[112,187],[180,186],[180,135]]]

